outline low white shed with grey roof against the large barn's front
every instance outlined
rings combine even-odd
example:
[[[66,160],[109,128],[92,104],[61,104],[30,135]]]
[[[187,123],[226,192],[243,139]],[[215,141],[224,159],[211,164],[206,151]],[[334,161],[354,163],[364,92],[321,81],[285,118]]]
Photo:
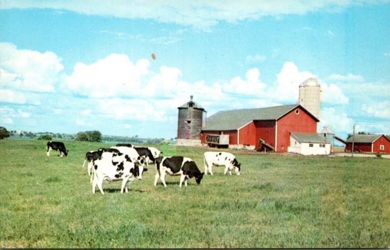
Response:
[[[303,155],[330,154],[331,141],[323,134],[290,132],[288,152]]]

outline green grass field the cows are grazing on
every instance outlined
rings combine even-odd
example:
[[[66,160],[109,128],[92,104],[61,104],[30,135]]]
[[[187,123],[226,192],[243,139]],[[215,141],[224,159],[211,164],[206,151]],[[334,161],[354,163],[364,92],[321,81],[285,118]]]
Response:
[[[0,248],[390,248],[390,160],[230,151],[241,175],[214,168],[200,185],[155,167],[120,193],[92,194],[87,151],[110,144],[0,141]],[[156,146],[195,160],[206,148]]]

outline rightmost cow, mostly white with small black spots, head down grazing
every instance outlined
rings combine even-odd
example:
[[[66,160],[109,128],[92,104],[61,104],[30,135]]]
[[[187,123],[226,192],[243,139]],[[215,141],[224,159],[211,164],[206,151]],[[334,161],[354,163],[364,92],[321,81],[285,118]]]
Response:
[[[230,175],[232,175],[232,169],[234,169],[237,175],[240,175],[241,164],[238,163],[237,159],[233,154],[227,152],[205,152],[203,154],[204,162],[204,172],[207,175],[207,170],[210,171],[210,174],[213,175],[211,171],[213,165],[215,166],[225,166],[226,174],[229,170]]]

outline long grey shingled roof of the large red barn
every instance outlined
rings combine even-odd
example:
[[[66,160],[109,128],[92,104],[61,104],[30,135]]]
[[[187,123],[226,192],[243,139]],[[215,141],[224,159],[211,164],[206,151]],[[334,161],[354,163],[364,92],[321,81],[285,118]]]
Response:
[[[220,111],[207,118],[206,126],[202,130],[237,130],[253,120],[277,120],[298,106],[300,105],[294,104],[259,109]],[[315,119],[318,121],[317,118]]]

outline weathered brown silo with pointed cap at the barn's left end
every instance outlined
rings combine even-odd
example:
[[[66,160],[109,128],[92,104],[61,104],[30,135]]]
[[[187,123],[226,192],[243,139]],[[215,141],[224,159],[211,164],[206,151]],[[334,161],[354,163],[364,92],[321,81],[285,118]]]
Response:
[[[200,131],[206,111],[193,101],[193,96],[190,101],[178,107],[178,110],[176,145],[200,145]]]

